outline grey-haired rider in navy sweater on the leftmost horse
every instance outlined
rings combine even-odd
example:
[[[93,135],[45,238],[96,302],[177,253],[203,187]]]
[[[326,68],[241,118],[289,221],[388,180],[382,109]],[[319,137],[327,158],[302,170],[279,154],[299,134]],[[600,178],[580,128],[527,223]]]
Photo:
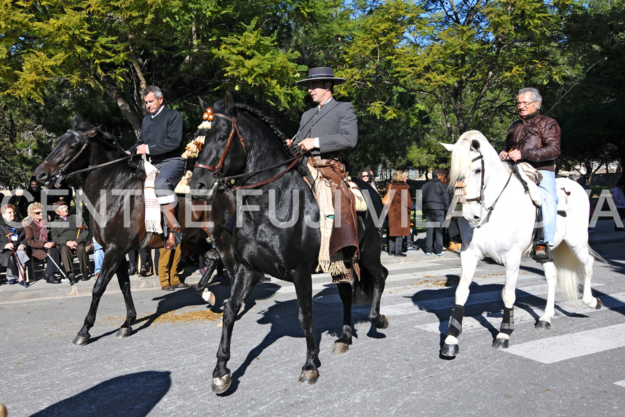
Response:
[[[174,232],[180,232],[180,224],[176,220],[178,199],[174,189],[185,171],[182,115],[163,106],[163,92],[156,85],[150,85],[142,94],[149,115],[143,118],[139,140],[126,149],[126,153],[149,155],[152,164],[160,171],[154,181],[154,191],[169,227],[165,250],[172,250],[175,246]]]

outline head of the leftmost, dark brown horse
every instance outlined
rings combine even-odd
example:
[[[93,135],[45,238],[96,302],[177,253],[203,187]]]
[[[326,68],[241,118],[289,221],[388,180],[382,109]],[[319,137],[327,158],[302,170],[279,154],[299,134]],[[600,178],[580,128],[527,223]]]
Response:
[[[74,116],[72,129],[59,136],[56,147],[35,170],[35,177],[40,183],[50,183],[61,173],[81,170],[88,166],[90,139],[97,136],[99,126],[78,122]]]

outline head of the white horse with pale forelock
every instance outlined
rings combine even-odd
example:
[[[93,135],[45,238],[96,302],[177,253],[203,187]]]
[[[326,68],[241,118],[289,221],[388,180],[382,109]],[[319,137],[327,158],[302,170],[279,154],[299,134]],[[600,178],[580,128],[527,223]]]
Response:
[[[462,204],[462,217],[476,227],[488,213],[484,190],[493,172],[488,167],[497,153],[479,131],[467,131],[454,145],[442,145],[451,151],[449,186],[455,188],[458,203]]]

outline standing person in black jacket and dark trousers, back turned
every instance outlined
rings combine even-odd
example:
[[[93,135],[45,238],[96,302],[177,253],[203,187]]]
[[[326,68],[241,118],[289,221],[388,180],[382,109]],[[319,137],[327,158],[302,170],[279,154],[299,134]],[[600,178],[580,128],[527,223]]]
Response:
[[[432,172],[432,179],[424,183],[421,188],[423,196],[422,211],[427,224],[426,231],[426,255],[432,253],[442,256],[442,224],[446,218],[446,213],[449,211],[449,204],[451,203],[451,195],[447,186],[440,181],[440,175],[442,171],[436,169]],[[451,218],[447,215],[447,218]]]

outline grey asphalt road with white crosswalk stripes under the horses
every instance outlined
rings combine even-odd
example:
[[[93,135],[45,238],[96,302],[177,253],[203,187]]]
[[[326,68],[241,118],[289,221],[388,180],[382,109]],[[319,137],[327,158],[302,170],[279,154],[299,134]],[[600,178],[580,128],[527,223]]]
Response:
[[[297,384],[306,346],[294,288],[276,279],[258,284],[235,325],[233,386],[225,395],[210,391],[220,335],[210,320],[218,314],[193,288],[134,291],[139,320],[126,339],[115,338],[122,295],[108,293],[85,347],[70,342],[90,297],[0,302],[0,402],[9,416],[624,416],[625,253],[622,244],[595,249],[610,259],[595,264],[593,279],[604,308],[563,303],[558,292],[547,332],[533,327],[547,286],[540,267],[523,262],[506,351],[490,347],[501,320],[503,268],[480,263],[452,361],[439,350],[460,275],[456,254],[424,259],[411,252],[403,263],[383,254],[390,277],[382,311],[390,327],[372,329],[367,309],[357,308],[357,337],[340,356],[331,354],[340,301],[317,275],[315,386]],[[211,289],[217,300],[228,297],[228,286]]]

